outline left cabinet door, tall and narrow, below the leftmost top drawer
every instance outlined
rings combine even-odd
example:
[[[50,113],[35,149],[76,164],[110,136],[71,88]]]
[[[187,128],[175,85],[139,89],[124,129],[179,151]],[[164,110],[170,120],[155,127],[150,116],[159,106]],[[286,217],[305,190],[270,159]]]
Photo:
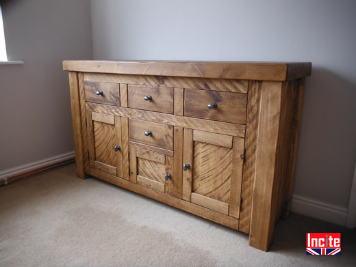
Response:
[[[123,177],[120,117],[87,111],[86,121],[90,167]]]

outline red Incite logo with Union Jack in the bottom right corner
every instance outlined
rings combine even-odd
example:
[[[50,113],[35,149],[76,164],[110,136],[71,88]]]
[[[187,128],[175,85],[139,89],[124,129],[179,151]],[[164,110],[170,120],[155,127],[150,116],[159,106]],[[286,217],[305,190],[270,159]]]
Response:
[[[307,233],[307,255],[340,255],[340,233]]]

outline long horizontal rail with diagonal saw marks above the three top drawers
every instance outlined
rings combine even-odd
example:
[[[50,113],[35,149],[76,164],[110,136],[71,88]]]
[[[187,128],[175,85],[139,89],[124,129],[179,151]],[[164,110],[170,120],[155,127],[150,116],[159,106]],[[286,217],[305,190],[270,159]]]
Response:
[[[247,93],[247,80],[205,79],[178,76],[152,76],[110,73],[84,73],[86,81],[105,81],[111,83],[127,83],[131,85],[152,85],[188,89],[204,89],[221,92]],[[123,106],[123,105],[122,105]]]

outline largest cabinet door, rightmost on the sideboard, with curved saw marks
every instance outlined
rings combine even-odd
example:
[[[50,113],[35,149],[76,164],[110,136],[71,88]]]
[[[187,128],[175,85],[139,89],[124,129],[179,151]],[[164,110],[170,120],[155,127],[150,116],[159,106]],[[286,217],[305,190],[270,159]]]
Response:
[[[183,199],[238,219],[243,155],[242,138],[185,128]]]

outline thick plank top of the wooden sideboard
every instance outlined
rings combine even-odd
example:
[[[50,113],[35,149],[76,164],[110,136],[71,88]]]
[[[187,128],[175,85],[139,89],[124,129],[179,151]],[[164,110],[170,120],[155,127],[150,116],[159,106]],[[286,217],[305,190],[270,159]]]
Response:
[[[312,72],[311,62],[235,61],[63,61],[63,69],[75,72],[102,72],[154,76],[290,81]]]

